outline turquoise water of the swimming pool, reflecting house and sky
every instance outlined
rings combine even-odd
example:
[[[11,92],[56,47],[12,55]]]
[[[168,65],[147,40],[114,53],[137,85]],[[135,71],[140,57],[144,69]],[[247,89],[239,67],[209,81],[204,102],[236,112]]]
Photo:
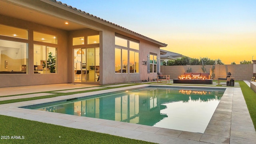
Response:
[[[204,133],[224,90],[144,88],[30,109]]]

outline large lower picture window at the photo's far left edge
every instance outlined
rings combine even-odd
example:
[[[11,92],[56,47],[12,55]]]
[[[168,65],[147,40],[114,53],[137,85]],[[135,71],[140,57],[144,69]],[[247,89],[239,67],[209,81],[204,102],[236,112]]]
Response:
[[[0,74],[26,74],[28,43],[0,40]]]

